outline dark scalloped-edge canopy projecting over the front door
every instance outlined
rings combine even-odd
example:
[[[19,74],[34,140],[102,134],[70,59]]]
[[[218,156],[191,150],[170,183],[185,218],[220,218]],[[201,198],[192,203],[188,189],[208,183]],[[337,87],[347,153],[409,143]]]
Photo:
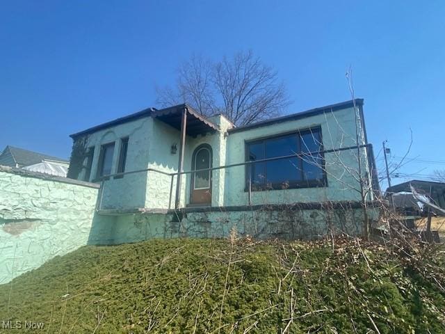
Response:
[[[198,134],[206,134],[219,130],[218,125],[200,115],[186,104],[156,110],[152,113],[152,117],[165,122],[175,129],[181,130],[181,120],[184,111],[187,113],[186,134],[188,136],[197,136]]]

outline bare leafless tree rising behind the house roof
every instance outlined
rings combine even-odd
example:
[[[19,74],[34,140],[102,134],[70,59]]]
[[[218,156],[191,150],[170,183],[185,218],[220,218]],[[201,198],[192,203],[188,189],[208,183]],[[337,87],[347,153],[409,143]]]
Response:
[[[218,62],[192,56],[177,75],[175,88],[156,89],[161,106],[185,102],[204,116],[219,112],[236,125],[248,125],[280,115],[290,103],[277,72],[252,51]]]

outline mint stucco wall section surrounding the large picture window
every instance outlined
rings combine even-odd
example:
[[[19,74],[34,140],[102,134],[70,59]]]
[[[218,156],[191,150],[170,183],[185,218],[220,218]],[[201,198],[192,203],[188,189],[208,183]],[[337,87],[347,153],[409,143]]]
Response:
[[[298,129],[321,126],[325,150],[347,148],[356,144],[355,112],[353,108],[321,115],[257,127],[229,134],[226,164],[245,161],[245,141]],[[364,143],[363,133],[359,145]],[[362,175],[367,171],[367,159],[362,149]],[[286,190],[253,191],[252,204],[311,202],[314,200],[359,200],[357,181],[357,150],[325,153],[327,186]],[[225,205],[248,205],[245,191],[245,167],[227,168],[225,177]]]

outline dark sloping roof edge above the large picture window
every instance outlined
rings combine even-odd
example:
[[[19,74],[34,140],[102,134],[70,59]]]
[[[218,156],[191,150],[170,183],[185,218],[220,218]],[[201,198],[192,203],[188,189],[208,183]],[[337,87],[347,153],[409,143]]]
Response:
[[[363,99],[355,99],[355,105],[363,106],[363,101],[364,101]],[[339,111],[347,108],[352,108],[353,106],[354,106],[354,100],[340,102],[337,104],[330,104],[328,106],[321,106],[319,108],[309,109],[307,111],[302,111],[300,113],[292,113],[291,115],[271,118],[270,120],[263,120],[261,122],[256,122],[249,125],[243,125],[242,127],[234,127],[232,129],[228,129],[227,132],[231,134],[234,132],[246,131],[257,127],[266,127],[268,125],[273,125],[275,123],[288,122],[289,120],[300,120],[301,118],[316,116],[326,112]]]

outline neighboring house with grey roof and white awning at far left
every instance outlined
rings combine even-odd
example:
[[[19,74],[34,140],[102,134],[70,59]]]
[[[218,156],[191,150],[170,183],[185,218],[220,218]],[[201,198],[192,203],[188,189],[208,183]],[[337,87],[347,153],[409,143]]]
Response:
[[[69,161],[22,148],[6,146],[0,154],[0,165],[23,168],[33,172],[66,177]]]

